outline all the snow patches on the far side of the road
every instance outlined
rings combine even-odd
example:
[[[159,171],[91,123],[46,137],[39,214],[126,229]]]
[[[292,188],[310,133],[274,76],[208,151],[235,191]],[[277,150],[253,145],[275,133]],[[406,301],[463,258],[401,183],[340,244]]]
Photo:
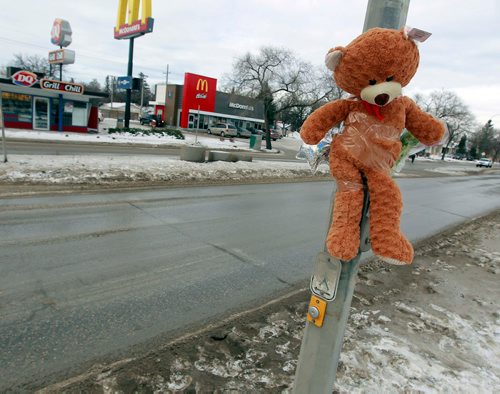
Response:
[[[134,125],[135,127],[135,125]],[[141,126],[146,129],[146,127]],[[132,135],[128,133],[107,134],[102,129],[99,134],[66,133],[37,130],[6,129],[7,143],[9,138],[45,140],[45,141],[72,141],[96,144],[140,144],[149,146],[182,146],[195,142],[208,149],[238,150],[251,155],[257,151],[249,149],[249,140],[208,137],[204,133],[184,133],[186,139],[178,140],[171,136]],[[302,141],[299,133],[290,133],[275,146],[298,151]],[[264,146],[264,144],[263,144]],[[8,149],[7,149],[8,151]],[[278,149],[265,150],[273,157]],[[179,159],[162,156],[38,156],[38,155],[9,155],[9,161],[0,165],[0,182],[37,183],[37,184],[117,184],[126,182],[169,182],[193,183],[196,181],[215,182],[244,181],[270,178],[303,178],[312,173],[306,162],[213,162],[191,163]],[[279,158],[279,156],[276,156]],[[436,157],[440,159],[439,157]],[[468,175],[481,172],[481,168],[461,163],[447,163],[443,166],[440,160],[417,158],[417,161],[433,161],[432,168],[425,169],[431,173],[443,175]],[[467,163],[466,163],[467,164]],[[317,176],[328,174],[328,166],[321,165]],[[402,173],[395,176],[412,176],[412,173]],[[415,176],[415,174],[413,174]]]

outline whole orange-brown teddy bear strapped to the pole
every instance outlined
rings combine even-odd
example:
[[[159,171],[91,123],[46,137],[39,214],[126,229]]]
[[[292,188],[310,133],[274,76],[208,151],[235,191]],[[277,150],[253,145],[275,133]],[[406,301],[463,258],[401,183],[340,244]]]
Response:
[[[400,135],[408,129],[425,145],[438,143],[444,125],[402,96],[417,71],[416,43],[404,30],[375,28],[346,47],[331,49],[326,65],[337,85],[353,95],[330,102],[304,122],[300,135],[317,144],[344,122],[330,147],[330,171],[337,180],[332,225],[326,246],[340,260],[358,253],[363,207],[363,177],[370,193],[372,250],[391,264],[411,264],[413,247],[400,230],[401,192],[391,168],[401,152]]]

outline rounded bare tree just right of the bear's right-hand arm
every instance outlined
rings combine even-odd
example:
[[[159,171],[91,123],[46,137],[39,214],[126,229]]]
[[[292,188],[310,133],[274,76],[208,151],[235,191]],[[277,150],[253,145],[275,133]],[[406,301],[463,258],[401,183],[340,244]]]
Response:
[[[444,160],[450,145],[464,133],[471,133],[476,125],[474,115],[462,99],[449,90],[437,90],[429,96],[416,95],[415,101],[426,112],[441,119],[448,126],[448,137],[445,141],[441,160]]]

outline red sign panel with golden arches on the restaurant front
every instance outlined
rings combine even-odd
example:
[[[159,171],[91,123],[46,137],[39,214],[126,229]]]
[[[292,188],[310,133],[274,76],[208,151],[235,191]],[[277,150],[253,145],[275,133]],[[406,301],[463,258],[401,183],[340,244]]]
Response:
[[[188,126],[189,110],[214,112],[217,79],[185,73],[182,97],[181,127]]]

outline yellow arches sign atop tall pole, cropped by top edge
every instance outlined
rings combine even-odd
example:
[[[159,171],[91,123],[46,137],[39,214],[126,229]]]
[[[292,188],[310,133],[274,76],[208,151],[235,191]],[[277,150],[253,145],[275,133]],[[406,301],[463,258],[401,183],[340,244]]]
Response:
[[[139,8],[141,9],[140,17]],[[122,40],[151,33],[154,24],[151,13],[151,0],[118,0],[115,38]]]

